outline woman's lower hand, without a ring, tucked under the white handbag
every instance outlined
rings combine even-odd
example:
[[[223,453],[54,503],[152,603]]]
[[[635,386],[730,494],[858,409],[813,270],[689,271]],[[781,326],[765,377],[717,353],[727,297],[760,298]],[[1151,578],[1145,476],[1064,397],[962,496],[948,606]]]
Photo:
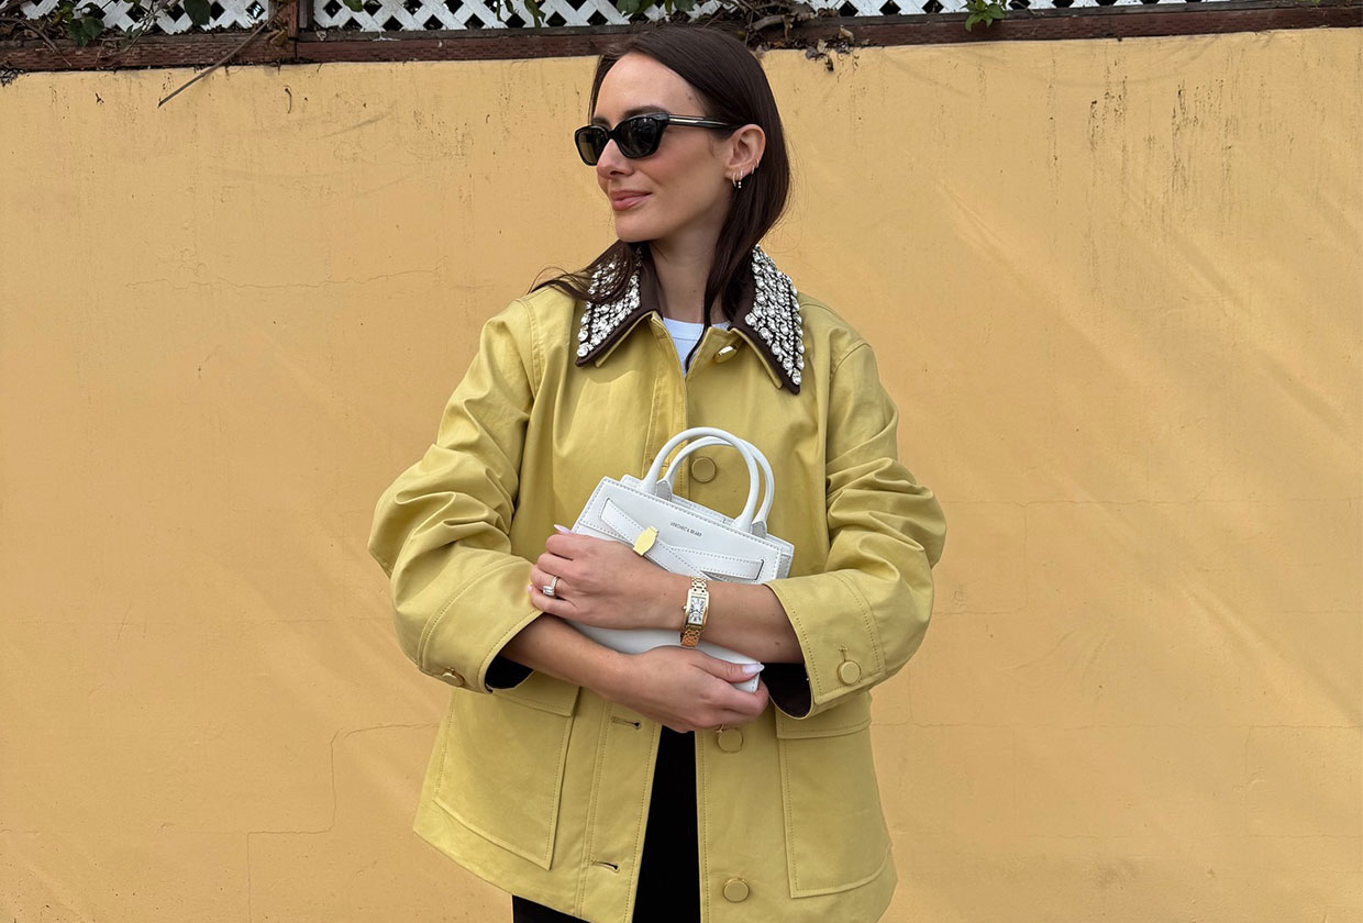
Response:
[[[673,731],[707,731],[748,724],[766,709],[767,689],[755,693],[735,689],[752,678],[759,664],[731,664],[699,650],[654,648],[624,657],[607,689],[608,701],[634,709]]]

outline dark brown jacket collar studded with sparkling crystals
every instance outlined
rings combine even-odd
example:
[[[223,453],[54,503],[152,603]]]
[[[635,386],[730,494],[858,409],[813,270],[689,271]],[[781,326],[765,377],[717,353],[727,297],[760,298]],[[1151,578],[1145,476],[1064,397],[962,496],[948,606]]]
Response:
[[[647,247],[639,269],[615,301],[586,303],[578,329],[577,364],[604,363],[624,335],[643,318],[658,314],[658,279]],[[611,282],[611,266],[592,275],[589,292],[601,292]],[[791,277],[776,267],[761,247],[752,248],[751,270],[740,278],[737,316],[732,329],[762,357],[777,387],[800,393],[804,368],[804,324],[800,301]]]

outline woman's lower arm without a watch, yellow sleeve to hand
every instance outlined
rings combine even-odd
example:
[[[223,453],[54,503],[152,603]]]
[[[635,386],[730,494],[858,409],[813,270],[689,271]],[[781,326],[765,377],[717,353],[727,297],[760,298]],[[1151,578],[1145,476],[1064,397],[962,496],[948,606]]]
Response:
[[[544,616],[526,592],[530,562],[511,551],[536,350],[526,305],[484,329],[425,457],[375,510],[369,549],[391,578],[403,652],[438,679],[474,693],[544,671],[675,729],[744,724],[767,703],[739,664],[696,650],[626,656]]]

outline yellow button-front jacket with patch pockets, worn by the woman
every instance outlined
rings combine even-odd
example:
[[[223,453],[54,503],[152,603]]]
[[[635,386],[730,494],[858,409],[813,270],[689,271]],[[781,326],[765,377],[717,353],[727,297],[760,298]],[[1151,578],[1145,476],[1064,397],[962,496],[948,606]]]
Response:
[[[799,296],[803,374],[740,318],[709,329],[683,375],[652,286],[645,271],[639,308],[593,318],[581,345],[583,304],[553,289],[492,318],[435,444],[379,500],[369,547],[393,578],[402,649],[455,687],[416,830],[504,890],[630,920],[658,727],[499,652],[537,616],[526,584],[553,524],[571,524],[601,477],[642,476],[677,431],[720,427],[774,468],[769,528],[795,560],[770,588],[804,669],[767,669],[773,708],[755,723],[695,735],[702,915],[876,920],[895,873],[870,689],[921,641],[940,509],[895,461],[898,414],[871,349],[833,311]],[[676,487],[732,515],[747,470],[702,451]]]

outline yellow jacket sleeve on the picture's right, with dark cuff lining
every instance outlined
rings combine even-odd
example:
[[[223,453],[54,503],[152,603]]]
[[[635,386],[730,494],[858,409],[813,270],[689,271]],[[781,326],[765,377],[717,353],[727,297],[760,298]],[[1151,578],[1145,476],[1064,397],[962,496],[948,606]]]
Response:
[[[932,492],[897,461],[898,412],[860,341],[829,384],[829,556],[818,574],[769,584],[803,664],[769,664],[771,701],[810,717],[880,683],[917,650],[932,611],[946,522]]]

